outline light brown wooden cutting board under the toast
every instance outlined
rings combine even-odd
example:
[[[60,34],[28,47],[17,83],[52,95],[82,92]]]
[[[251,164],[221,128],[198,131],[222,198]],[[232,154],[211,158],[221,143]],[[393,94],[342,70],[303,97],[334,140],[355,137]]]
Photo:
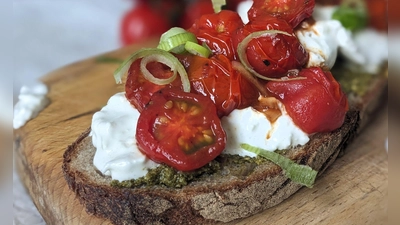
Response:
[[[21,179],[48,224],[110,224],[87,214],[68,188],[61,169],[63,153],[109,97],[123,91],[112,76],[119,64],[104,56],[125,59],[154,43],[123,48],[103,55],[103,60],[80,61],[42,78],[51,103],[14,131],[14,151]],[[384,107],[314,188],[302,188],[280,205],[232,224],[386,224],[387,126]]]

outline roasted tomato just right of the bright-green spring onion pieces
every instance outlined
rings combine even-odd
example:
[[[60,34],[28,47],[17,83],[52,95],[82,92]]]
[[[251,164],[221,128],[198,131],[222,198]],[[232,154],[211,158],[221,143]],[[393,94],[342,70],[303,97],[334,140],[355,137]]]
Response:
[[[206,43],[214,54],[224,54],[233,60],[236,56],[231,35],[242,26],[239,14],[222,10],[219,13],[201,16],[189,31],[196,35],[200,44]]]

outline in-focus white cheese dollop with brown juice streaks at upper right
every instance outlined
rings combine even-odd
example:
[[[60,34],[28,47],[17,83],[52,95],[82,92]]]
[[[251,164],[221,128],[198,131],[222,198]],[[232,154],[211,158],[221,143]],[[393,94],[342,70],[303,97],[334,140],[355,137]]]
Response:
[[[321,20],[312,24],[304,21],[296,35],[309,53],[307,67],[332,68],[339,50],[352,62],[365,63],[365,56],[359,52],[351,32],[338,20]]]

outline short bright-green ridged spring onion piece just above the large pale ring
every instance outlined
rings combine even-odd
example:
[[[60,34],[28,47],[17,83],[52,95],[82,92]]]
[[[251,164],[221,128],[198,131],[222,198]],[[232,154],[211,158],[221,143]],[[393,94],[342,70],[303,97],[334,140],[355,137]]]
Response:
[[[197,42],[196,36],[190,32],[179,33],[160,41],[157,48],[180,54],[185,51],[185,44],[188,41]]]

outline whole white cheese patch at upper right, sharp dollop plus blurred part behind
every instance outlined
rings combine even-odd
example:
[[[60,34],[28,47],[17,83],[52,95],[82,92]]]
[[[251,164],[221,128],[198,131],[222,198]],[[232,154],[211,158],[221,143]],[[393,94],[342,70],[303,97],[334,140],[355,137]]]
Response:
[[[297,32],[300,42],[310,51],[308,67],[319,64],[333,66],[337,50],[358,69],[376,74],[388,59],[388,36],[372,28],[350,32],[340,22],[332,22],[338,6],[314,7],[313,18],[317,21],[308,30]],[[340,25],[339,25],[340,24]]]

